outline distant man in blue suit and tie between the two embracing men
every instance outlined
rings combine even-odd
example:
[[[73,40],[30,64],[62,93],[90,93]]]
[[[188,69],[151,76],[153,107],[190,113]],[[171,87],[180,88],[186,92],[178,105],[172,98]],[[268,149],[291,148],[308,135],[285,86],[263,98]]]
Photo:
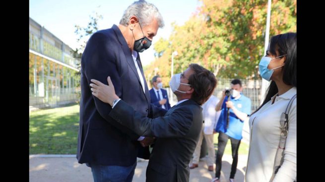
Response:
[[[159,75],[154,76],[151,83],[153,86],[149,91],[151,103],[166,110],[170,109],[167,91],[162,89],[161,77]]]

